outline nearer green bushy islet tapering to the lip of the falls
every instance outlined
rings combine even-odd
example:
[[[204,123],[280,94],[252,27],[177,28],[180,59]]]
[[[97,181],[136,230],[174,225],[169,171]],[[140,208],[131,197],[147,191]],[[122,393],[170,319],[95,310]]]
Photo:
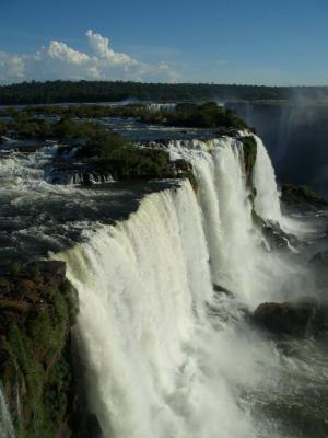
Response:
[[[28,117],[25,111],[13,112],[8,132],[23,138],[58,139],[67,145],[61,148],[62,152],[78,146],[78,158],[89,159],[95,171],[110,172],[116,180],[189,177],[191,174],[190,170],[183,169],[183,164],[172,163],[167,151],[136,148],[128,138],[96,122],[73,120],[67,116],[58,122],[47,122]]]

